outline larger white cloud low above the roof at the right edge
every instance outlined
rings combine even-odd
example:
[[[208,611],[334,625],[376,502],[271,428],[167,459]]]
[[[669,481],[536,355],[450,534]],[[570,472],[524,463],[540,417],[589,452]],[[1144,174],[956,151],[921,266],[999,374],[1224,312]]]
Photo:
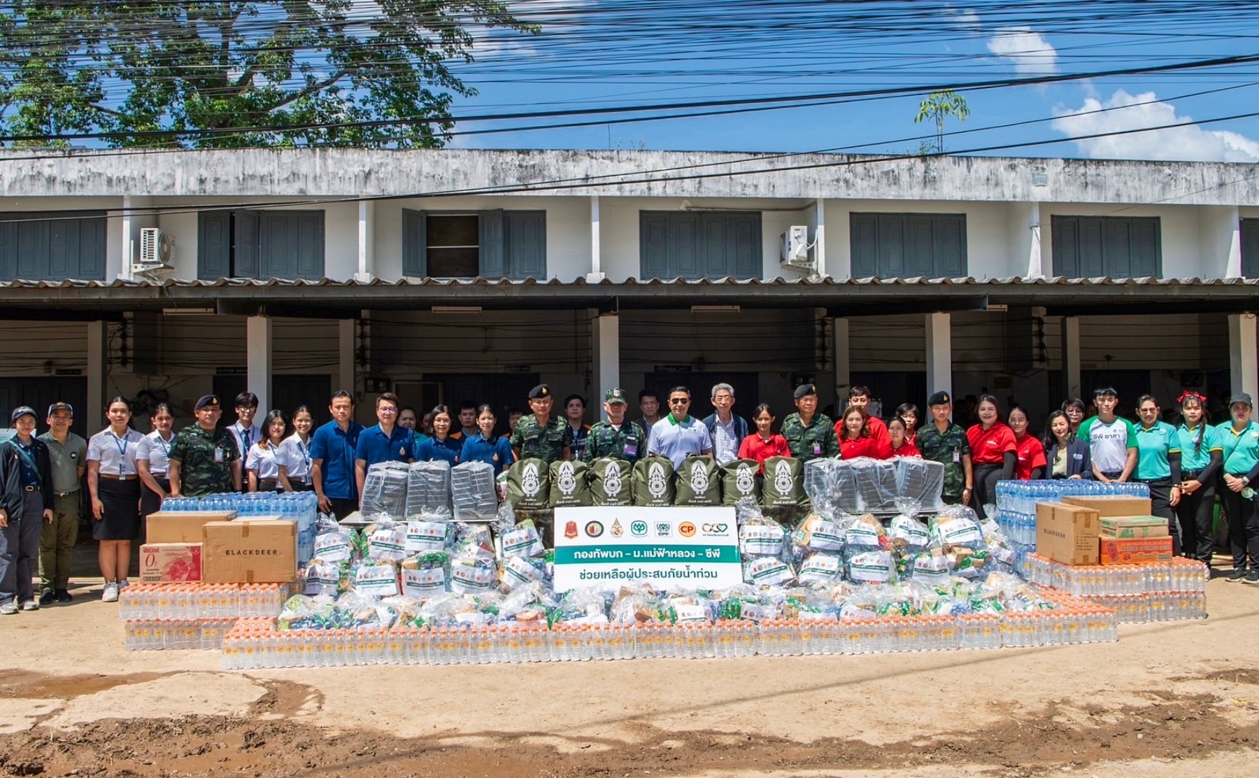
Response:
[[[1102,113],[1090,113],[1112,108]],[[1055,110],[1054,130],[1068,137],[1162,127],[1166,130],[1089,137],[1075,141],[1084,156],[1123,160],[1177,160],[1192,162],[1259,162],[1259,141],[1226,130],[1204,130],[1190,116],[1177,116],[1176,106],[1158,101],[1153,92],[1128,94],[1119,89],[1110,99],[1085,98],[1079,110]]]

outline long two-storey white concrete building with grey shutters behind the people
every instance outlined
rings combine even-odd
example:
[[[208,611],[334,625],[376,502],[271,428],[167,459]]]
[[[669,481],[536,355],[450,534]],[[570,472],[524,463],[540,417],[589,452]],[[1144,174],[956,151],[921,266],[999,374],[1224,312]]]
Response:
[[[248,386],[321,419],[354,386],[370,418],[387,389],[506,408],[539,380],[726,380],[779,415],[803,380],[823,405],[860,383],[1034,419],[1103,383],[1259,394],[1254,165],[10,150],[0,171],[4,409],[169,397],[183,422]],[[781,261],[793,225],[808,267]],[[137,267],[151,228],[169,268]]]

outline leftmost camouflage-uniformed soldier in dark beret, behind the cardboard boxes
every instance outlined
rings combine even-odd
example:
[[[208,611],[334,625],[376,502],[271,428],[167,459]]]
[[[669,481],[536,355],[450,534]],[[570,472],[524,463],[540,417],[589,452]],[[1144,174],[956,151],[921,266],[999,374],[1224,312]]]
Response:
[[[232,433],[218,427],[219,398],[196,400],[196,423],[179,431],[170,444],[171,497],[200,497],[240,491],[240,452]]]

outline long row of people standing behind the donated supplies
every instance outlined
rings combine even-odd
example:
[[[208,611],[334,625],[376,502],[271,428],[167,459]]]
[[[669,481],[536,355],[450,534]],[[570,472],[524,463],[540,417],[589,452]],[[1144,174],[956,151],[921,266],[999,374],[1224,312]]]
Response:
[[[818,412],[817,388],[805,384],[796,389],[796,410],[778,432],[768,404],[753,409],[750,426],[737,415],[730,384],[713,386],[710,399],[714,413],[697,419],[690,414],[691,392],[675,386],[661,415],[656,394],[645,390],[638,397],[642,418],[631,420],[626,393],[609,389],[604,419],[587,426],[584,398],[569,395],[559,417],[550,388],[540,384],[529,393],[530,413],[511,412],[509,434],[499,436],[490,405],[465,403],[458,413],[437,405],[419,415],[388,393],[375,399],[378,423],[364,427],[354,420],[354,395],[344,390],[332,394],[331,419],[319,428],[306,405],[292,415],[271,410],[256,423],[258,398],[247,392],[235,398],[230,426],[220,426],[219,398],[205,395],[194,404],[193,424],[176,433],[171,408],[159,404],[151,431],[141,434],[131,427],[131,405],[116,397],[104,409],[107,426],[88,441],[71,432],[69,404],[48,408],[48,431],[39,436],[37,412],[24,405],[10,417],[15,437],[0,443],[0,614],[72,599],[71,553],[84,475],[92,536],[99,541],[102,598],[116,602],[127,585],[141,521],[167,496],[313,491],[322,512],[344,519],[359,509],[371,465],[437,459],[452,466],[485,462],[504,472],[521,458],[635,462],[656,454],[679,466],[689,456],[705,454],[719,465],[745,458],[763,467],[774,456],[805,462],[922,457],[944,466],[944,501],[969,505],[981,517],[996,502],[1002,480],[1141,481],[1149,485],[1153,514],[1168,520],[1175,553],[1206,563],[1219,493],[1233,554],[1226,578],[1259,584],[1259,501],[1251,486],[1259,480],[1259,422],[1251,418],[1248,394],[1234,395],[1230,419],[1212,427],[1206,398],[1185,392],[1177,399],[1181,423],[1173,427],[1162,420],[1153,397],[1138,398],[1134,424],[1118,415],[1115,390],[1100,388],[1093,397],[1094,415],[1084,418],[1084,402],[1068,399],[1045,419],[1040,438],[1022,408],[1002,414],[991,395],[978,398],[978,420],[967,429],[952,420],[947,392],[928,398],[925,418],[906,403],[884,420],[869,413],[869,389],[852,386],[846,408],[832,420]]]

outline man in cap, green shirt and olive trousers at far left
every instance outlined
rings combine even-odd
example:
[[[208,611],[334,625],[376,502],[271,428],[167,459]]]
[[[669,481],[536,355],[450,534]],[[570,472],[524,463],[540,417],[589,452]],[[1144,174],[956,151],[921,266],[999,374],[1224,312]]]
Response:
[[[39,439],[48,446],[53,478],[53,524],[39,536],[39,604],[68,603],[71,556],[78,541],[79,485],[87,470],[87,441],[71,432],[74,408],[69,403],[48,407],[48,432]]]

